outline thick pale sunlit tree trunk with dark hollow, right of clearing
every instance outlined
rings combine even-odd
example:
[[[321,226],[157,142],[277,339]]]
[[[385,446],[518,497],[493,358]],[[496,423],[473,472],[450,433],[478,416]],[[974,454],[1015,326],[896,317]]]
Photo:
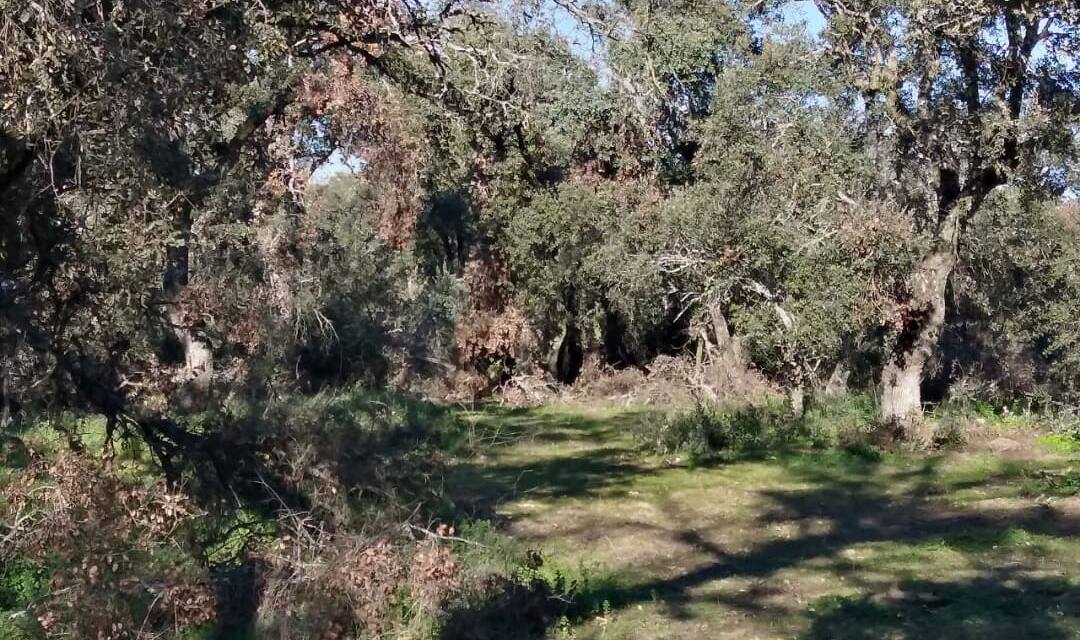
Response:
[[[960,212],[954,205],[943,218],[933,246],[908,281],[896,344],[881,373],[881,420],[886,423],[903,425],[922,411],[922,371],[945,324],[945,288],[957,261]]]

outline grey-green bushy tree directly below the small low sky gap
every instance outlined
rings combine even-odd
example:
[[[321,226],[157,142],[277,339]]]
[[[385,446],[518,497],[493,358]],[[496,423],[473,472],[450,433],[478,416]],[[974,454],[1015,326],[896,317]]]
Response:
[[[437,373],[433,365],[450,359],[459,286],[437,271],[420,277],[418,256],[381,236],[378,198],[369,181],[342,177],[312,190],[295,333],[282,337],[283,359],[311,387]]]

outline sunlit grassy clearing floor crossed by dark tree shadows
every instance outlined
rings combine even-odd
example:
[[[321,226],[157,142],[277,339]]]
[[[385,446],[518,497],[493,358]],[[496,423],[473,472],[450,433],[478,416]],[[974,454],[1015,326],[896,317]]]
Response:
[[[1080,454],[792,451],[689,467],[657,420],[491,408],[458,505],[578,581],[578,639],[1080,638]],[[1008,434],[1007,434],[1008,435]],[[1013,436],[1023,440],[1020,436]]]

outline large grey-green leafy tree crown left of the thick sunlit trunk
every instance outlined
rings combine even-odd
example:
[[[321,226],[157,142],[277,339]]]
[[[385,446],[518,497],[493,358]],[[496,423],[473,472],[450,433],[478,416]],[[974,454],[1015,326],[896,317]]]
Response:
[[[697,325],[721,313],[759,370],[807,387],[877,322],[881,289],[914,248],[889,203],[853,200],[869,167],[808,47],[769,40],[716,76],[691,130],[696,179],[662,203],[653,249]]]

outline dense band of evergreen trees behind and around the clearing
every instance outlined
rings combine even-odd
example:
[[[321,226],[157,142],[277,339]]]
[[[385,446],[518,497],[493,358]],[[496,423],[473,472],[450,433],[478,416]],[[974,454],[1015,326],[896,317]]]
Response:
[[[782,4],[0,4],[4,420],[164,461],[237,394],[725,350],[1075,400],[1076,5]]]

